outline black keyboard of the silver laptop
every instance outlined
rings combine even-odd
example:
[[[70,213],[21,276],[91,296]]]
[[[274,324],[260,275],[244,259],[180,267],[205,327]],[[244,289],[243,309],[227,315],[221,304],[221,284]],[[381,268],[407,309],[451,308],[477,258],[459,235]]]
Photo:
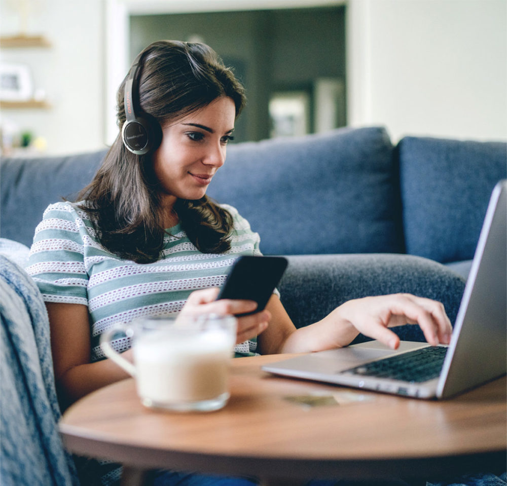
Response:
[[[428,346],[361,364],[347,369],[343,373],[352,372],[355,375],[422,383],[440,375],[446,353],[447,347]]]

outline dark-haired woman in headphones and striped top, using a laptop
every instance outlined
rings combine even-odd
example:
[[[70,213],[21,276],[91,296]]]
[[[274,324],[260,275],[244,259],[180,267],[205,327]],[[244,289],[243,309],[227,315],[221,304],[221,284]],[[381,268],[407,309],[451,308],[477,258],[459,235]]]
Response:
[[[234,208],[206,197],[244,102],[232,72],[203,44],[160,41],[134,61],[118,92],[121,134],[80,202],[46,210],[31,248],[28,270],[47,303],[63,406],[126,377],[98,346],[115,322],[255,310],[215,297],[237,256],[260,254],[259,236]],[[430,344],[449,342],[443,306],[424,298],[350,301],[296,330],[273,294],[266,310],[238,319],[237,352],[330,349],[358,332],[396,348],[388,327],[407,322]],[[127,340],[113,345],[130,354]]]

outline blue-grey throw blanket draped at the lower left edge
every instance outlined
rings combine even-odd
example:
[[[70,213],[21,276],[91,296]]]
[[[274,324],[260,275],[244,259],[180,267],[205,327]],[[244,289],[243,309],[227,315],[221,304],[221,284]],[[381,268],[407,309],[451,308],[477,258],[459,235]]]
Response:
[[[42,296],[24,270],[3,255],[0,275],[0,483],[78,485],[57,427],[60,409]]]

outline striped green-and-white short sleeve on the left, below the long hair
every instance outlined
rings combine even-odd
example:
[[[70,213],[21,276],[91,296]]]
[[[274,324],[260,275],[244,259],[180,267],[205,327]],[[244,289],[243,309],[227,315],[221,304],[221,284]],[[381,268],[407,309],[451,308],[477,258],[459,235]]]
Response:
[[[52,204],[44,212],[26,270],[45,302],[88,305],[83,232],[86,225],[74,205]]]

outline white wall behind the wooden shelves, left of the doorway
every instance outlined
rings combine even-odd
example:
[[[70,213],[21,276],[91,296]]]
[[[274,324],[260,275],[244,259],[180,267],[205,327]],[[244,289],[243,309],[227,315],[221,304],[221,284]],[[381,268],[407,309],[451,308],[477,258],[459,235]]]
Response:
[[[18,33],[14,6],[0,0],[0,33]],[[32,0],[28,33],[43,34],[51,47],[2,49],[2,62],[26,63],[48,110],[3,110],[2,122],[47,140],[48,153],[78,153],[104,146],[104,1]]]

